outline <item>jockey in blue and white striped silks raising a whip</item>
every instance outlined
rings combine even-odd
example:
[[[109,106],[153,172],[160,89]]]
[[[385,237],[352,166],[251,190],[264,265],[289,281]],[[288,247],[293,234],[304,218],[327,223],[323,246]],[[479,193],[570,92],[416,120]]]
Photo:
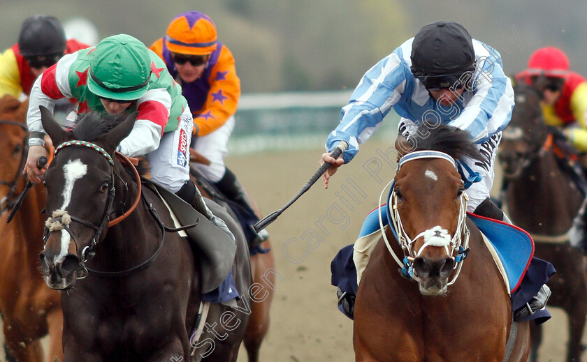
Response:
[[[473,40],[461,24],[441,21],[426,25],[379,61],[365,73],[349,105],[342,108],[340,124],[326,140],[328,152],[320,163],[333,165],[324,173],[325,188],[330,176],[352,160],[359,144],[375,133],[392,107],[401,116],[396,148],[421,123],[434,127],[442,122],[470,133],[484,160],[463,160],[459,167],[465,187],[470,185],[467,210],[511,223],[489,198],[501,131],[514,107],[514,90],[499,52]],[[335,160],[331,151],[340,141],[349,147]],[[338,290],[339,301],[352,313],[354,296],[344,294]]]

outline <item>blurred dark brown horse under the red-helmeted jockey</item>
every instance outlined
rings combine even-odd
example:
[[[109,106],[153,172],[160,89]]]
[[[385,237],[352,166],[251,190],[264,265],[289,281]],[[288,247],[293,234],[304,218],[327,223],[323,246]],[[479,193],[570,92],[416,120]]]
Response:
[[[516,106],[498,153],[507,184],[504,209],[515,225],[532,234],[535,255],[555,266],[557,273],[549,282],[549,306],[567,313],[570,338],[566,361],[580,361],[587,315],[587,264],[581,252],[571,248],[568,231],[584,195],[569,172],[558,166],[560,157],[542,117],[539,93],[524,84],[517,84],[514,91]],[[530,361],[537,361],[542,329],[532,324],[530,331]]]

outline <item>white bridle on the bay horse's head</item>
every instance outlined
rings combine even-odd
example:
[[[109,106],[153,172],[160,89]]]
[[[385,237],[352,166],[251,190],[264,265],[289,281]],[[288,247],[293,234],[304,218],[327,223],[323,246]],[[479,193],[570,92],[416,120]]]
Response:
[[[415,151],[412,153],[408,153],[407,155],[400,158],[400,160],[398,162],[397,172],[398,173],[400,172],[400,167],[403,164],[405,164],[411,160],[419,160],[422,158],[440,158],[440,159],[449,161],[451,163],[451,165],[454,165],[454,167],[457,168],[457,164],[456,164],[455,160],[451,156],[449,156],[447,153],[440,152],[440,151]],[[400,213],[398,210],[398,195],[396,193],[396,190],[393,188],[394,184],[395,184],[395,179],[391,180],[384,187],[381,195],[379,195],[379,205],[382,205],[382,198],[383,198],[384,192],[391,185],[391,192],[389,193],[389,195],[387,197],[388,212],[386,213],[386,217],[389,220],[389,225],[391,227],[391,231],[393,232],[393,235],[396,237],[396,240],[398,241],[398,243],[400,244],[400,246],[403,250],[403,260],[400,260],[399,257],[396,255],[396,252],[394,252],[393,248],[391,248],[389,240],[387,239],[387,236],[384,231],[384,223],[383,223],[383,217],[382,217],[382,206],[379,206],[379,210],[378,210],[379,211],[379,227],[381,229],[382,236],[383,236],[385,245],[387,247],[387,250],[389,250],[393,259],[395,259],[396,263],[398,263],[398,265],[400,266],[400,272],[402,273],[402,275],[405,276],[406,278],[410,278],[412,280],[418,281],[418,278],[416,276],[414,276],[414,269],[413,269],[414,259],[416,257],[419,257],[419,255],[421,255],[423,250],[425,248],[427,248],[428,246],[443,247],[444,250],[446,250],[447,255],[449,255],[450,257],[452,257],[454,259],[454,261],[455,261],[454,269],[457,269],[456,273],[454,274],[452,279],[447,283],[447,285],[452,285],[456,281],[456,278],[458,278],[459,273],[461,273],[461,268],[463,266],[462,261],[465,259],[465,257],[467,257],[467,254],[470,250],[470,248],[469,248],[470,231],[469,231],[469,228],[467,227],[467,223],[465,222],[466,217],[467,217],[467,203],[469,200],[467,193],[465,193],[465,191],[463,191],[463,193],[461,194],[461,197],[460,197],[461,198],[461,207],[458,211],[458,223],[456,226],[456,232],[454,233],[452,238],[449,237],[448,233],[445,230],[444,230],[444,232],[440,232],[440,229],[439,229],[436,231],[438,237],[430,239],[433,241],[425,242],[423,244],[423,246],[421,246],[419,251],[416,253],[416,252],[414,252],[414,250],[412,250],[412,247],[414,246],[414,242],[417,239],[419,239],[420,237],[424,236],[425,233],[430,232],[430,230],[425,230],[423,232],[420,232],[413,239],[410,238],[410,236],[407,234],[407,232],[405,232],[402,220],[400,218]]]

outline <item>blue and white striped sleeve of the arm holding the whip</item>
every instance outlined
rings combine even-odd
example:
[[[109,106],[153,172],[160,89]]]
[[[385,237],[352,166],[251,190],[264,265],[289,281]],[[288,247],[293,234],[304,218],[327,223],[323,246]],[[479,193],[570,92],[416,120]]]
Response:
[[[339,125],[326,139],[327,151],[332,151],[340,141],[349,144],[344,153],[345,163],[354,158],[358,145],[377,131],[379,123],[402,96],[407,66],[396,52],[386,56],[363,75],[349,104],[342,108]]]

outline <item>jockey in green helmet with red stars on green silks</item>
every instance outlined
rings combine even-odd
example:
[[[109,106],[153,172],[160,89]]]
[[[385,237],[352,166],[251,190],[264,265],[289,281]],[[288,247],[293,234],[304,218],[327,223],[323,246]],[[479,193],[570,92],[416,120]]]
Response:
[[[189,179],[187,135],[192,128],[191,113],[181,87],[157,54],[136,38],[119,34],[101,40],[95,47],[63,56],[39,75],[29,100],[30,148],[24,166],[35,183],[44,173],[36,167],[36,161],[47,156],[39,106],[52,111],[61,98],[77,100],[77,114],[130,114],[138,110],[133,130],[117,151],[130,157],[145,156],[151,179],[191,204],[234,241],[224,221],[212,214]],[[68,116],[73,123],[76,119]]]

